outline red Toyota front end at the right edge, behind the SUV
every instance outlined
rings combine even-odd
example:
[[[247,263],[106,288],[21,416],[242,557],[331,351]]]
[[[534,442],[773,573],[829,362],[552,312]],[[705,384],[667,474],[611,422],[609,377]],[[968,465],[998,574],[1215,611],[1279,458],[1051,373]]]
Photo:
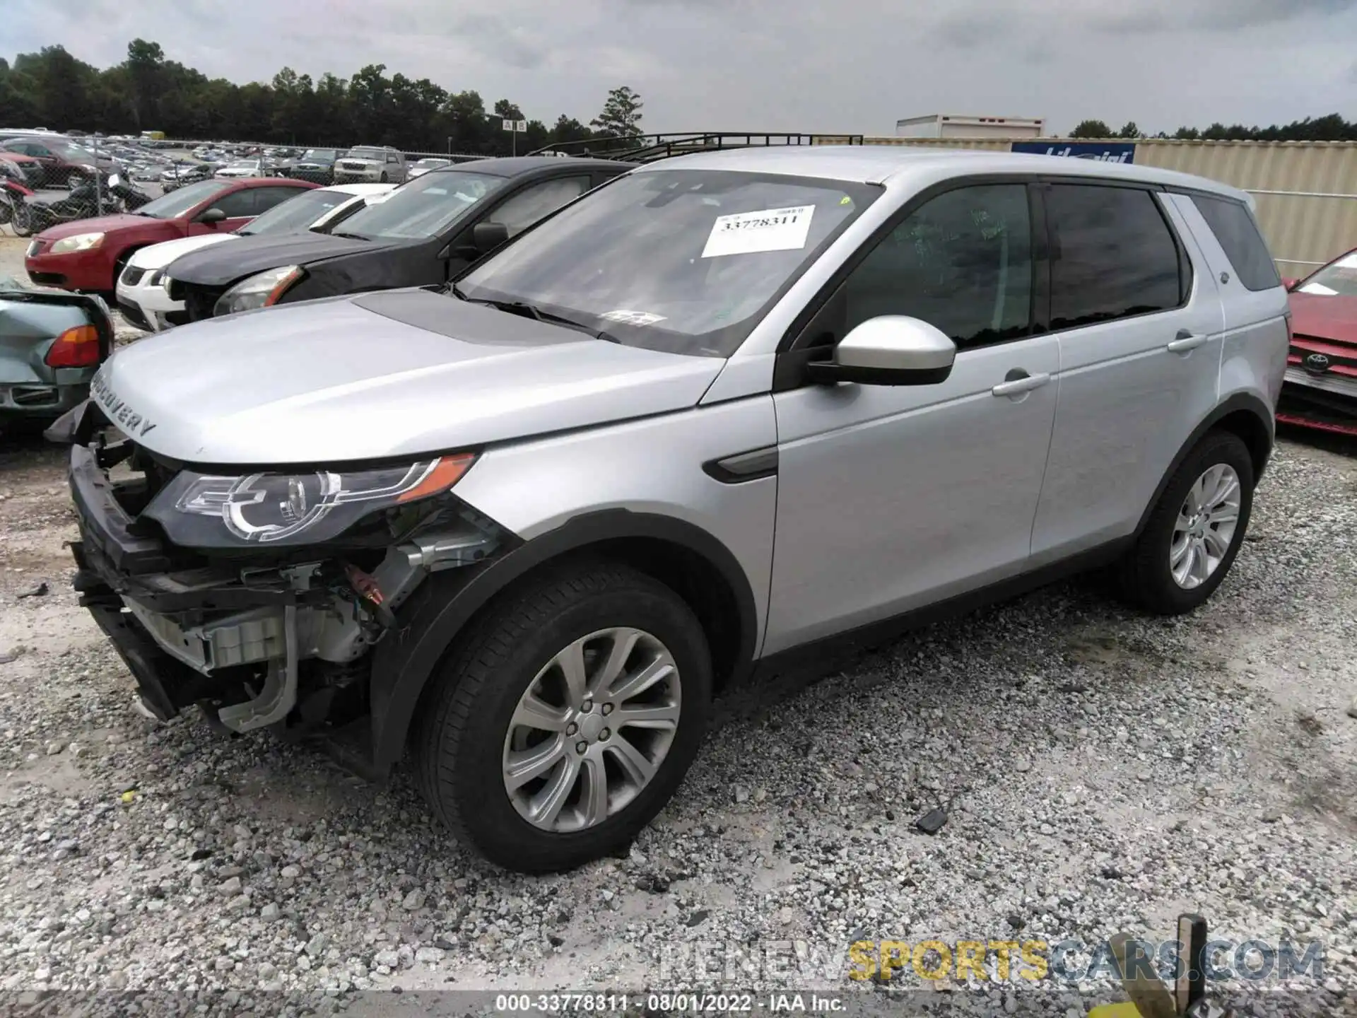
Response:
[[[1357,248],[1284,282],[1292,341],[1277,419],[1357,436]]]

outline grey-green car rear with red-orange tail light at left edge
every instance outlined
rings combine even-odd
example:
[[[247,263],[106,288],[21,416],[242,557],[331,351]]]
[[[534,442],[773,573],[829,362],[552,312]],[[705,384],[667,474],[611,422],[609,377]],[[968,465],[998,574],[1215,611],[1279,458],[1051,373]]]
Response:
[[[49,425],[83,403],[111,352],[103,300],[0,277],[0,433]]]

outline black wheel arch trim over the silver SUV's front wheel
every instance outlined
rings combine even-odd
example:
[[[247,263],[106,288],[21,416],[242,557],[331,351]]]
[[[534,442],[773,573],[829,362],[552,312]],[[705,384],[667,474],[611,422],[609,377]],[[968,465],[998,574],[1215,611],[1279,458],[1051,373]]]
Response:
[[[753,588],[734,554],[716,538],[670,516],[604,509],[577,516],[471,570],[436,573],[400,611],[400,628],[381,641],[372,662],[372,767],[385,775],[400,759],[419,699],[448,647],[499,592],[565,555],[617,540],[650,539],[695,554],[725,580],[735,601],[740,639],[731,680],[753,665],[759,622]]]

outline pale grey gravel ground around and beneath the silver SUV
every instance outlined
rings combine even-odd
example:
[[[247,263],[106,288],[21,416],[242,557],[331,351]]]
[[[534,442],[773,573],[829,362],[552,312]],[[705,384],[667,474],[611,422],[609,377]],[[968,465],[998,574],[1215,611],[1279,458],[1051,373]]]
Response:
[[[0,989],[408,1014],[449,999],[391,989],[818,985],[896,1007],[830,964],[849,942],[1163,939],[1198,911],[1223,939],[1324,945],[1293,995],[1229,984],[1246,1013],[1354,1013],[1354,535],[1357,448],[1286,440],[1197,615],[1141,618],[1077,581],[727,704],[630,855],[527,878],[456,846],[404,772],[377,789],[307,748],[134,714],[69,589],[60,451],[9,440]],[[947,824],[916,831],[936,805]],[[749,968],[788,949],[809,962]],[[966,984],[906,975],[896,1013],[1118,996],[974,977],[939,996],[919,988]]]

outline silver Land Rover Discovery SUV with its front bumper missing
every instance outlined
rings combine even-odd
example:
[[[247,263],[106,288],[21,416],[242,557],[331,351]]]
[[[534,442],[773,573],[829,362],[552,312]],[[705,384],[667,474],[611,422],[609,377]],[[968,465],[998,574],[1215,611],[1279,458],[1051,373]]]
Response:
[[[735,683],[1103,563],[1201,605],[1286,346],[1229,187],[716,152],[444,290],[123,347],[54,437],[76,585],[148,711],[376,778],[408,749],[467,843],[556,870],[665,805]]]

